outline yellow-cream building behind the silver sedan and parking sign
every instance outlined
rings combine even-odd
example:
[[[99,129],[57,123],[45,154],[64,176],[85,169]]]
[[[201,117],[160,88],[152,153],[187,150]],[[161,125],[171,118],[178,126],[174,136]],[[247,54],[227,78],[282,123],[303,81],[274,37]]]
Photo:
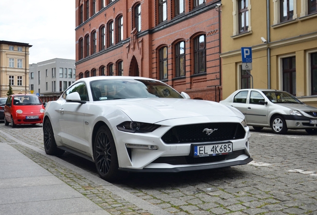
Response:
[[[285,90],[317,107],[317,7],[312,0],[223,0],[223,99],[235,90]],[[252,47],[250,76],[241,47]],[[253,77],[253,78],[252,78]]]

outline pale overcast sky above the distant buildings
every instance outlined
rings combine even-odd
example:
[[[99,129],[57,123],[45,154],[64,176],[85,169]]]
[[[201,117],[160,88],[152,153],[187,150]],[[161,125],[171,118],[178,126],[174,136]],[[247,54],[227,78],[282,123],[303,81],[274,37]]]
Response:
[[[29,64],[75,60],[75,0],[0,0],[0,40],[32,45]]]

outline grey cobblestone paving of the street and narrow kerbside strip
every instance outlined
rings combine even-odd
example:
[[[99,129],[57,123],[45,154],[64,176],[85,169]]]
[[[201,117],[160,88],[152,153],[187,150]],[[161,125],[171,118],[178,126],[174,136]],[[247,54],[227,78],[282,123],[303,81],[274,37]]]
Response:
[[[5,134],[44,150],[41,125],[0,124],[0,142],[12,143],[110,214],[152,214]],[[317,135],[304,130],[277,135],[271,129],[251,128],[250,152],[254,160],[248,165],[177,174],[130,173],[113,184],[159,207],[164,212],[159,214],[317,215]],[[59,158],[97,175],[92,162],[69,153]]]

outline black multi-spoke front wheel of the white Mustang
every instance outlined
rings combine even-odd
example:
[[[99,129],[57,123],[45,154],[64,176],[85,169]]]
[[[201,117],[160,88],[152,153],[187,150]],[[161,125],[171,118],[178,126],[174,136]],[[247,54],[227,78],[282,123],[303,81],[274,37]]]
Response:
[[[114,181],[119,177],[119,163],[116,145],[111,131],[105,125],[96,134],[94,144],[96,169],[100,177],[106,181]]]

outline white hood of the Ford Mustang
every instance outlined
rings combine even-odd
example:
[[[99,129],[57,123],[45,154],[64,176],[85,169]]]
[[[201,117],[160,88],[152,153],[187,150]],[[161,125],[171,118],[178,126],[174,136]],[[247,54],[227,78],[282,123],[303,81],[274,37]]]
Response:
[[[117,100],[118,102],[118,100]],[[216,102],[190,99],[125,99],[120,100],[117,108],[132,120],[159,122],[166,119],[197,116],[238,116],[243,114]]]

